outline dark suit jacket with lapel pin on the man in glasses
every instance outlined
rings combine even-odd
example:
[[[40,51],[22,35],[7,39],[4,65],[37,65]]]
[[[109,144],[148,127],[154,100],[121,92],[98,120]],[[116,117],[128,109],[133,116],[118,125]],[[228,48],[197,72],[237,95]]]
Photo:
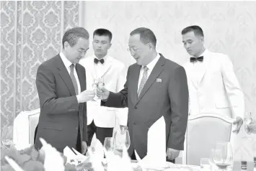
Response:
[[[128,106],[130,155],[136,149],[140,157],[146,156],[148,130],[162,116],[166,123],[167,147],[178,150],[184,148],[188,116],[187,76],[182,66],[160,56],[138,98],[141,65],[135,63],[128,68],[123,90],[119,93],[110,92],[107,101],[102,101],[104,106]],[[162,81],[156,81],[156,78]]]

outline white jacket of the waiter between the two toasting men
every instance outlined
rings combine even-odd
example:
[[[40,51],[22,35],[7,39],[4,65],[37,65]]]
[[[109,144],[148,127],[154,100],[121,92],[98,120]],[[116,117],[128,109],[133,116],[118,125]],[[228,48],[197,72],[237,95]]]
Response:
[[[118,92],[123,89],[127,69],[125,65],[115,58],[107,56],[105,63],[102,65],[100,75],[96,75],[94,69],[94,56],[86,57],[80,60],[80,64],[84,66],[87,75],[87,88],[92,88],[94,78],[104,78],[107,90]],[[115,127],[115,121],[119,121],[121,125],[127,125],[128,108],[109,108],[100,106],[99,101],[87,101],[87,125],[94,124],[103,128]]]

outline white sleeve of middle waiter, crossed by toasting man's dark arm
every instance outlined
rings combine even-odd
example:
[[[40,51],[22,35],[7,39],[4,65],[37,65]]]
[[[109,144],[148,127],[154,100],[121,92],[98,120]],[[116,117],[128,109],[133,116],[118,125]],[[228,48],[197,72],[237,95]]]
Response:
[[[127,69],[125,69],[125,65],[123,65],[122,68],[120,69],[120,76],[118,78],[116,92],[119,92],[123,89],[126,75],[127,75]],[[119,124],[126,126],[127,119],[128,119],[128,108],[116,108],[116,114],[117,114]]]

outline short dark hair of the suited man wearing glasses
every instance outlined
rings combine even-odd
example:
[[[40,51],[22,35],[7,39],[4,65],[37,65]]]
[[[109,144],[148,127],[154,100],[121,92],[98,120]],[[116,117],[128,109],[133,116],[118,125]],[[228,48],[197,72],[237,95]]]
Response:
[[[134,34],[139,34],[141,42],[144,44],[151,42],[154,47],[156,47],[156,36],[154,35],[154,32],[151,31],[151,29],[139,27],[138,29],[134,29],[130,33],[130,36],[133,36]]]

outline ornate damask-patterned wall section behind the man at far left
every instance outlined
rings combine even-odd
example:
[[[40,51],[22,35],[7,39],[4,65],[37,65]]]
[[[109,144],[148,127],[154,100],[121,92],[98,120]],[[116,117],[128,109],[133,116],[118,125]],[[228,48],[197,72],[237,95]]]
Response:
[[[58,54],[61,34],[78,22],[77,1],[1,1],[1,128],[39,108],[37,68]]]

